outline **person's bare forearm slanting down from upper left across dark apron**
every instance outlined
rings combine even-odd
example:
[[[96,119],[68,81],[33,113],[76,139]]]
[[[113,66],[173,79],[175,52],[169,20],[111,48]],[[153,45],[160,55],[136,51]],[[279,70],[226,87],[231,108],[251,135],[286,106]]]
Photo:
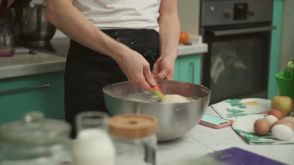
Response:
[[[70,0],[47,0],[47,20],[71,39],[114,59],[128,50],[96,28]]]

